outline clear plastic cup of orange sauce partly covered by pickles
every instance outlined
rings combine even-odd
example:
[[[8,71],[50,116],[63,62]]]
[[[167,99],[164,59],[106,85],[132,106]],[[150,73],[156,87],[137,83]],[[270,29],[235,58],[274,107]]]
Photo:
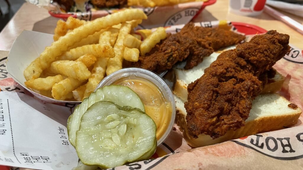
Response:
[[[165,81],[149,70],[131,67],[105,77],[96,89],[109,85],[127,86],[140,96],[145,112],[157,125],[157,145],[164,142],[176,117],[175,99]]]

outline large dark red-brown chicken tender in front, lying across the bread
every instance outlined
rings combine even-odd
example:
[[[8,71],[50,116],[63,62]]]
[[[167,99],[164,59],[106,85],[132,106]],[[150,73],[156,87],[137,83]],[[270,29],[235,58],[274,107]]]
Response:
[[[189,133],[215,139],[244,126],[252,100],[267,82],[263,75],[289,51],[288,43],[287,34],[268,31],[221,53],[202,77],[188,85]]]

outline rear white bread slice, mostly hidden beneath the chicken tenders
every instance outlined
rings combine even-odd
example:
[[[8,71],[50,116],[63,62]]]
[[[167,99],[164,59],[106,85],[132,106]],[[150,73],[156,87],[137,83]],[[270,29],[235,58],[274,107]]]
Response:
[[[234,47],[229,47],[228,49],[232,49],[232,48]],[[175,82],[173,86],[174,94],[180,97],[182,100],[187,101],[188,84],[200,78],[204,74],[204,70],[217,59],[218,55],[221,54],[221,52],[222,51],[217,51],[211,54],[209,57],[205,57],[200,64],[198,64],[196,67],[190,70],[182,69],[182,65],[180,64],[176,68],[174,68],[173,70],[175,74]],[[280,73],[276,72],[275,77],[270,79],[268,82],[269,83],[265,85],[261,93],[275,93],[281,90],[284,82],[284,77]]]

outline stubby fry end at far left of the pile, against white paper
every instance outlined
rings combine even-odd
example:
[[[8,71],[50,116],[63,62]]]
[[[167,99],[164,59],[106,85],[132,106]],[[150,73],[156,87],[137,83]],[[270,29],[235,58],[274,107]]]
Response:
[[[25,80],[32,80],[36,79],[40,76],[42,73],[42,69],[40,66],[40,59],[36,58],[34,61],[32,61],[31,64],[24,70],[23,75],[25,77]]]

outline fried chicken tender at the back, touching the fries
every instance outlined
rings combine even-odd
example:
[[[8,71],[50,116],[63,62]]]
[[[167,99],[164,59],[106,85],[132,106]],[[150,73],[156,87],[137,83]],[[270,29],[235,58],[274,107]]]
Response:
[[[240,43],[245,36],[219,28],[195,27],[188,23],[176,34],[167,34],[145,57],[133,66],[161,73],[187,59],[185,69],[191,69],[222,47]]]

